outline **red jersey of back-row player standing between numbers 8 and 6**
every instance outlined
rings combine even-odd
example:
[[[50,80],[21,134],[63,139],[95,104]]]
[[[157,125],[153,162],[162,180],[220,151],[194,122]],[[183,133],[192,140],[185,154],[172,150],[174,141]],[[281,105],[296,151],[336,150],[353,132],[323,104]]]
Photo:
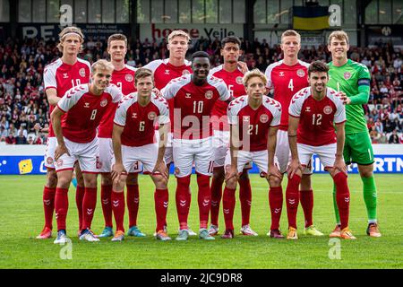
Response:
[[[136,70],[136,68],[133,68],[130,65],[124,65],[124,68],[120,71],[114,70],[111,83],[115,84],[124,95],[137,91],[134,86],[134,75],[136,74]],[[104,117],[102,117],[98,128],[98,137],[112,137],[116,108],[117,104],[110,105]]]

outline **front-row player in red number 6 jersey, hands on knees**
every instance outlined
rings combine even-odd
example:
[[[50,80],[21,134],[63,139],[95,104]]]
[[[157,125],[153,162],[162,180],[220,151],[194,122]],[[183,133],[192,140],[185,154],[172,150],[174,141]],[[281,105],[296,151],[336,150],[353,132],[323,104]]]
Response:
[[[113,142],[116,163],[112,175],[113,211],[116,220],[116,234],[113,241],[124,239],[124,182],[127,173],[139,161],[144,173],[149,173],[155,184],[155,211],[157,215],[156,238],[170,240],[164,225],[167,219],[167,165],[164,161],[167,143],[169,109],[167,100],[151,93],[154,87],[152,72],[141,68],[135,75],[137,92],[127,95],[116,110]],[[159,124],[160,139],[155,138],[155,126]]]

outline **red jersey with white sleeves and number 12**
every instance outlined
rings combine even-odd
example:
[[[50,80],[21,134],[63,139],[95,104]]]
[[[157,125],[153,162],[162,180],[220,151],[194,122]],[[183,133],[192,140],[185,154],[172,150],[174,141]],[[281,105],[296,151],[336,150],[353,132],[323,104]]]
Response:
[[[313,99],[310,87],[298,91],[291,100],[288,113],[291,117],[299,117],[296,142],[313,146],[336,143],[334,123],[346,121],[343,101],[338,92],[329,87],[322,100]]]

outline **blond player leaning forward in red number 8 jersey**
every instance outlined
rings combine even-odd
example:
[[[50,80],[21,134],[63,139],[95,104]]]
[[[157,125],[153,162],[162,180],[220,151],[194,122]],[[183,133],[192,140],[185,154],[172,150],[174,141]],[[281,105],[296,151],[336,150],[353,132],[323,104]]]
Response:
[[[73,177],[73,165],[78,161],[84,178],[82,200],[82,230],[80,239],[98,241],[90,230],[97,203],[99,173],[99,143],[97,127],[111,103],[122,99],[122,92],[109,85],[114,65],[99,60],[91,66],[91,83],[66,91],[51,114],[57,138],[55,151],[57,187],[55,198],[57,239],[65,243],[65,218],[68,209],[68,188]],[[64,116],[64,117],[62,117]]]

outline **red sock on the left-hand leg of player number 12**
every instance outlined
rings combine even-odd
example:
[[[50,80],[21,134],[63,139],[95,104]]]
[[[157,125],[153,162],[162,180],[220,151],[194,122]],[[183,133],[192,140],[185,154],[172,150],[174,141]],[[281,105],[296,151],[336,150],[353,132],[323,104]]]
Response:
[[[294,175],[293,178],[289,178],[286,190],[286,202],[287,202],[287,217],[288,227],[294,227],[296,229],[296,213],[298,211],[299,204],[299,183],[301,177]]]

